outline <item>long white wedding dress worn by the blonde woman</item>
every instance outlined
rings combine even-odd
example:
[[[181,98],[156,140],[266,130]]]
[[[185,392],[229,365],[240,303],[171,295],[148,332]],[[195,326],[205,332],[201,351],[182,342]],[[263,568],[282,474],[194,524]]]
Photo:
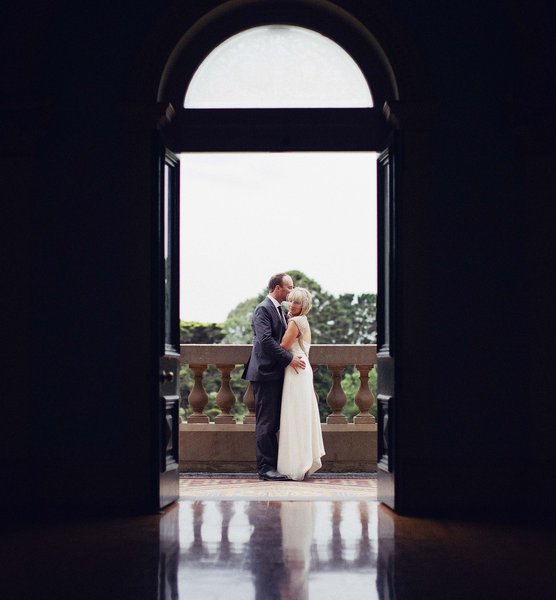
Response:
[[[319,407],[313,388],[313,369],[309,363],[311,329],[306,316],[292,317],[300,335],[290,351],[302,355],[306,367],[298,373],[286,368],[280,437],[278,444],[278,471],[300,481],[322,467],[324,444],[320,426]]]

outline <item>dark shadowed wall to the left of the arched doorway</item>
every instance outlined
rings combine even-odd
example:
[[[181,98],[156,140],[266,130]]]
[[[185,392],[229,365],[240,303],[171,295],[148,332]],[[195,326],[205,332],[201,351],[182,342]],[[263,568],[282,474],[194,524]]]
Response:
[[[151,505],[152,141],[126,102],[156,8],[125,4],[27,5],[3,36],[3,166],[14,254],[29,256],[7,315],[19,377],[3,491],[19,506]]]

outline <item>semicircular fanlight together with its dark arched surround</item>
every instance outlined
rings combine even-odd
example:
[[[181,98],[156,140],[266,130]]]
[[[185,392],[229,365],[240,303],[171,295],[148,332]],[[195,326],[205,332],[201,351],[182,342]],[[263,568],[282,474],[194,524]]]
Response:
[[[299,48],[302,39],[308,53],[304,61],[295,58],[295,48]],[[258,43],[258,55],[249,56],[244,49],[242,55],[247,40]],[[281,53],[283,73],[274,70],[270,74],[268,67],[264,72],[270,50],[274,50],[275,58],[276,51]],[[328,64],[327,72],[319,67],[319,61],[321,67]],[[253,65],[265,78],[263,85],[259,83],[258,95],[253,94],[253,77],[250,80],[246,76]],[[233,69],[227,72],[230,66]],[[238,89],[233,91],[232,70],[236,88],[243,87],[239,95]],[[311,94],[309,88],[319,70],[324,85],[320,90],[313,86]],[[212,83],[210,71],[220,72],[219,77],[212,77]],[[218,81],[216,87],[214,81]],[[285,99],[288,81],[296,89],[293,96]],[[232,92],[235,99],[230,104]],[[247,98],[249,94],[251,99]],[[274,99],[270,99],[271,94]],[[279,96],[281,101],[277,100]],[[385,101],[396,99],[393,69],[374,35],[353,15],[328,0],[219,3],[190,23],[166,63],[158,90],[159,102],[195,108],[361,108],[380,107]]]

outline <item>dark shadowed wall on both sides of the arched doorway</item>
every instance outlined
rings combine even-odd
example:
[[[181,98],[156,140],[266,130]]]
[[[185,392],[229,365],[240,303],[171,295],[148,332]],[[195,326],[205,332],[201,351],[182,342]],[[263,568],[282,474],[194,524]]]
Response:
[[[26,4],[4,22],[12,503],[151,501],[154,82],[181,31],[165,11],[218,3],[143,4]],[[556,462],[544,319],[552,277],[539,260],[554,245],[552,4],[339,4],[388,32],[401,102],[427,107],[402,128],[406,507],[542,503]],[[516,492],[516,473],[528,491]]]

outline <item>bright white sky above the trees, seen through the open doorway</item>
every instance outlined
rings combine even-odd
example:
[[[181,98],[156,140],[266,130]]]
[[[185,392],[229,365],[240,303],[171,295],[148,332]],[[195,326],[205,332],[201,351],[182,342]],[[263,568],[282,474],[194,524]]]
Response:
[[[223,322],[293,269],[334,295],[376,292],[376,154],[180,159],[182,320]]]

